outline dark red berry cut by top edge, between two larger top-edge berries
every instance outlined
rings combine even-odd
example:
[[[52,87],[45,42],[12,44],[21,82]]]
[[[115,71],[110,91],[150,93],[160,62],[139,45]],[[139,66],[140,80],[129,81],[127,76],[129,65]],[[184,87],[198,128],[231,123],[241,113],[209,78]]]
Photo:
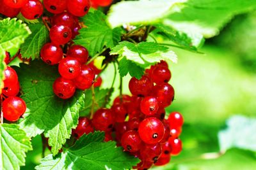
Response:
[[[51,13],[61,13],[67,9],[67,0],[44,0],[44,7]]]

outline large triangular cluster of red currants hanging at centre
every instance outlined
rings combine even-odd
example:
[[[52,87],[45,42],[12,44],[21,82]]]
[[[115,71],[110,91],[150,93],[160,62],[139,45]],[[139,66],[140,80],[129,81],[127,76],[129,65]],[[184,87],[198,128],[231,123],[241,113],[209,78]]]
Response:
[[[164,119],[164,108],[174,97],[173,87],[167,83],[170,78],[166,62],[152,66],[140,80],[130,80],[132,96],[116,97],[111,109],[100,108],[92,120],[80,117],[72,134],[79,138],[93,129],[104,131],[105,141],[115,139],[125,152],[141,159],[134,169],[167,164],[171,155],[182,150],[179,135],[183,125],[179,112],[170,113],[168,119]]]

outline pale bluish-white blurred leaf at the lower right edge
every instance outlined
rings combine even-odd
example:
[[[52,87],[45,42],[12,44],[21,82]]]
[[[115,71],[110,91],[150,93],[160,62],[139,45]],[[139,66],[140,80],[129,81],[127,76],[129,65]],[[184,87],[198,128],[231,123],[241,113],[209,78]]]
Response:
[[[219,132],[220,150],[241,148],[256,152],[256,118],[235,115],[228,118],[227,129]]]

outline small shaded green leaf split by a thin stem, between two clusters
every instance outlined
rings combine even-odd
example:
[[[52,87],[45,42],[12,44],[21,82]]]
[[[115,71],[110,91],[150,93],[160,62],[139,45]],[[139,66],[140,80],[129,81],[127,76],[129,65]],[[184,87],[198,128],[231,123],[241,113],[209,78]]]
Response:
[[[95,102],[96,102],[95,106],[93,107],[94,111],[98,110],[104,105],[105,97],[108,94],[109,90],[111,89],[99,89],[99,88],[94,89]],[[80,116],[83,116],[83,117],[88,116],[92,108],[92,90],[91,89],[86,90],[85,98],[86,98],[86,101],[84,101],[84,108],[83,110],[80,111]]]

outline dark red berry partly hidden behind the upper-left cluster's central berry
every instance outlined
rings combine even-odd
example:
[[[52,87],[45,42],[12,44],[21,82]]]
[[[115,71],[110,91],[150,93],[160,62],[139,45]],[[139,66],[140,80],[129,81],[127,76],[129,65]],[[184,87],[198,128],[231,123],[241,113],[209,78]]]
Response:
[[[68,49],[67,56],[77,59],[81,64],[85,64],[88,59],[88,50],[81,45],[73,45]]]

